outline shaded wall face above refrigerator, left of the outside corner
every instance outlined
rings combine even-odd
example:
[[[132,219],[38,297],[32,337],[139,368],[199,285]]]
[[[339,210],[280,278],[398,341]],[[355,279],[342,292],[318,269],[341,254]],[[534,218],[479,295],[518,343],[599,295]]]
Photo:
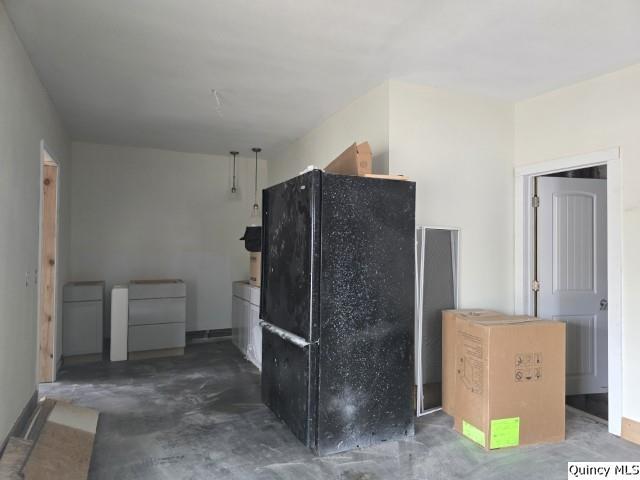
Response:
[[[326,167],[353,142],[368,141],[375,173],[388,172],[389,84],[379,85],[269,158],[269,185],[298,175],[308,165]]]

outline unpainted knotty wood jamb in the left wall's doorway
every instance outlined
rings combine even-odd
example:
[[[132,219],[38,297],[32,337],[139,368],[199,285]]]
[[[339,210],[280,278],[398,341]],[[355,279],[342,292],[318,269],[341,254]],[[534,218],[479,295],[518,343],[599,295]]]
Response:
[[[41,147],[40,254],[38,282],[38,380],[53,382],[56,374],[56,269],[58,236],[58,164]]]

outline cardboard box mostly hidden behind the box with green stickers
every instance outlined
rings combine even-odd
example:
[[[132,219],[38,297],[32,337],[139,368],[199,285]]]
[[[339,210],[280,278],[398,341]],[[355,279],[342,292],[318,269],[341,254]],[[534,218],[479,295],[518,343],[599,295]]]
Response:
[[[460,309],[442,311],[442,410],[455,416],[456,395],[456,319],[502,318],[493,310]]]

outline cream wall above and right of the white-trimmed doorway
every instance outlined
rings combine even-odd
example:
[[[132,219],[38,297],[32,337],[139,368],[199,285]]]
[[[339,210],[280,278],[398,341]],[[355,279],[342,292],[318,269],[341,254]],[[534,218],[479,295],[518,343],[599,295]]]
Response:
[[[515,165],[620,147],[623,199],[623,405],[640,421],[640,65],[515,107]]]

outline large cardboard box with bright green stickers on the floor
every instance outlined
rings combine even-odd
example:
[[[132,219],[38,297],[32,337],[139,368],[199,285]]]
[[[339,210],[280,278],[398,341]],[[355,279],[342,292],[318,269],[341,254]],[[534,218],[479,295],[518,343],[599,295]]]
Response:
[[[563,440],[565,335],[532,317],[458,319],[456,430],[487,450]]]

